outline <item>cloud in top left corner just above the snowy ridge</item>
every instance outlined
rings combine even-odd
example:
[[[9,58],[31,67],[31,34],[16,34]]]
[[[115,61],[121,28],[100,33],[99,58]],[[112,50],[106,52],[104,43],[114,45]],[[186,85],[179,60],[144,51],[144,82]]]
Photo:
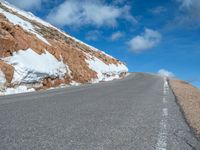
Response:
[[[42,2],[44,0],[7,0],[7,1],[21,9],[32,10],[32,9],[40,9]]]

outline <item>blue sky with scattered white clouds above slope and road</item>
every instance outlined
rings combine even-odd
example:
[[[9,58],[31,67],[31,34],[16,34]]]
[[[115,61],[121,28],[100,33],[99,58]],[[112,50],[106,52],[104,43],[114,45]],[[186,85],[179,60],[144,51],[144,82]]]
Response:
[[[200,87],[199,0],[8,0],[124,61]]]

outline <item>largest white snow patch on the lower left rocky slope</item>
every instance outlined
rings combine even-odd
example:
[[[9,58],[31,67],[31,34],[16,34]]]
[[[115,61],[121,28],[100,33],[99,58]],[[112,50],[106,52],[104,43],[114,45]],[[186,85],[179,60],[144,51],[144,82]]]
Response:
[[[39,55],[32,49],[20,50],[3,60],[15,68],[12,83],[35,83],[45,77],[63,77],[70,70],[48,51]]]

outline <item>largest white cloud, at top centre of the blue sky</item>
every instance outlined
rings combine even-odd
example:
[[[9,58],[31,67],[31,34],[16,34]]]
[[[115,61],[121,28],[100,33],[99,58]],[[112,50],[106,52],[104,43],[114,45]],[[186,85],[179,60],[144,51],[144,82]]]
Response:
[[[117,26],[118,19],[136,21],[130,14],[130,7],[107,5],[102,1],[68,0],[53,9],[47,20],[60,26]]]

